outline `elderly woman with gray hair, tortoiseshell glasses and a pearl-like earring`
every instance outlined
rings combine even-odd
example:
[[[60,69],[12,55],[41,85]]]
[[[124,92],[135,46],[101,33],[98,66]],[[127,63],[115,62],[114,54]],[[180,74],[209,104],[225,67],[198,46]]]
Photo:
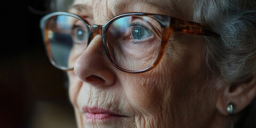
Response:
[[[79,127],[247,127],[255,24],[254,0],[75,0],[41,20]]]

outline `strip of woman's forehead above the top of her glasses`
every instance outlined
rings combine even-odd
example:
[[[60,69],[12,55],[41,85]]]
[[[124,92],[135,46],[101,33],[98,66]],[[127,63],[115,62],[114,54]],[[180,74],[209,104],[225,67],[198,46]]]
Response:
[[[154,10],[161,14],[183,19],[190,19],[188,15],[191,14],[188,12],[191,13],[191,9],[193,9],[193,1],[191,0],[75,0],[73,5],[77,4],[86,5],[94,11],[100,10],[102,12],[104,10],[117,14],[132,11],[154,13],[150,12]]]

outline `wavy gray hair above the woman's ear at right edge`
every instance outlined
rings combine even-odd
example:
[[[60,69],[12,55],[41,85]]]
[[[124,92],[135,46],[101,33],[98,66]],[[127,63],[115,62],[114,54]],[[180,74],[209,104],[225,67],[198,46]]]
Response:
[[[256,68],[256,1],[198,0],[194,21],[220,35],[205,37],[209,68],[227,82],[247,81]]]

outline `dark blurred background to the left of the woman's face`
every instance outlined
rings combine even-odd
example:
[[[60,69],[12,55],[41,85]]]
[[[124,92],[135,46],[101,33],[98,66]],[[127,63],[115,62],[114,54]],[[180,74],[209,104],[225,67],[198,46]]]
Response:
[[[0,127],[76,127],[66,73],[46,56],[39,20],[46,0],[2,1]]]

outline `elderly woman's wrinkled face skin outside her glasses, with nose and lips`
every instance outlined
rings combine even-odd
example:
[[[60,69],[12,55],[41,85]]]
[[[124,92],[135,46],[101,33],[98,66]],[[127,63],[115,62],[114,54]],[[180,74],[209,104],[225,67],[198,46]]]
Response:
[[[77,0],[71,13],[91,25],[118,14],[146,12],[183,17],[189,2]],[[166,8],[167,7],[167,8]],[[167,10],[167,11],[166,11]],[[146,73],[116,69],[94,36],[74,60],[69,95],[79,127],[206,127],[214,115],[218,80],[207,73],[201,36],[172,34],[159,65]]]

